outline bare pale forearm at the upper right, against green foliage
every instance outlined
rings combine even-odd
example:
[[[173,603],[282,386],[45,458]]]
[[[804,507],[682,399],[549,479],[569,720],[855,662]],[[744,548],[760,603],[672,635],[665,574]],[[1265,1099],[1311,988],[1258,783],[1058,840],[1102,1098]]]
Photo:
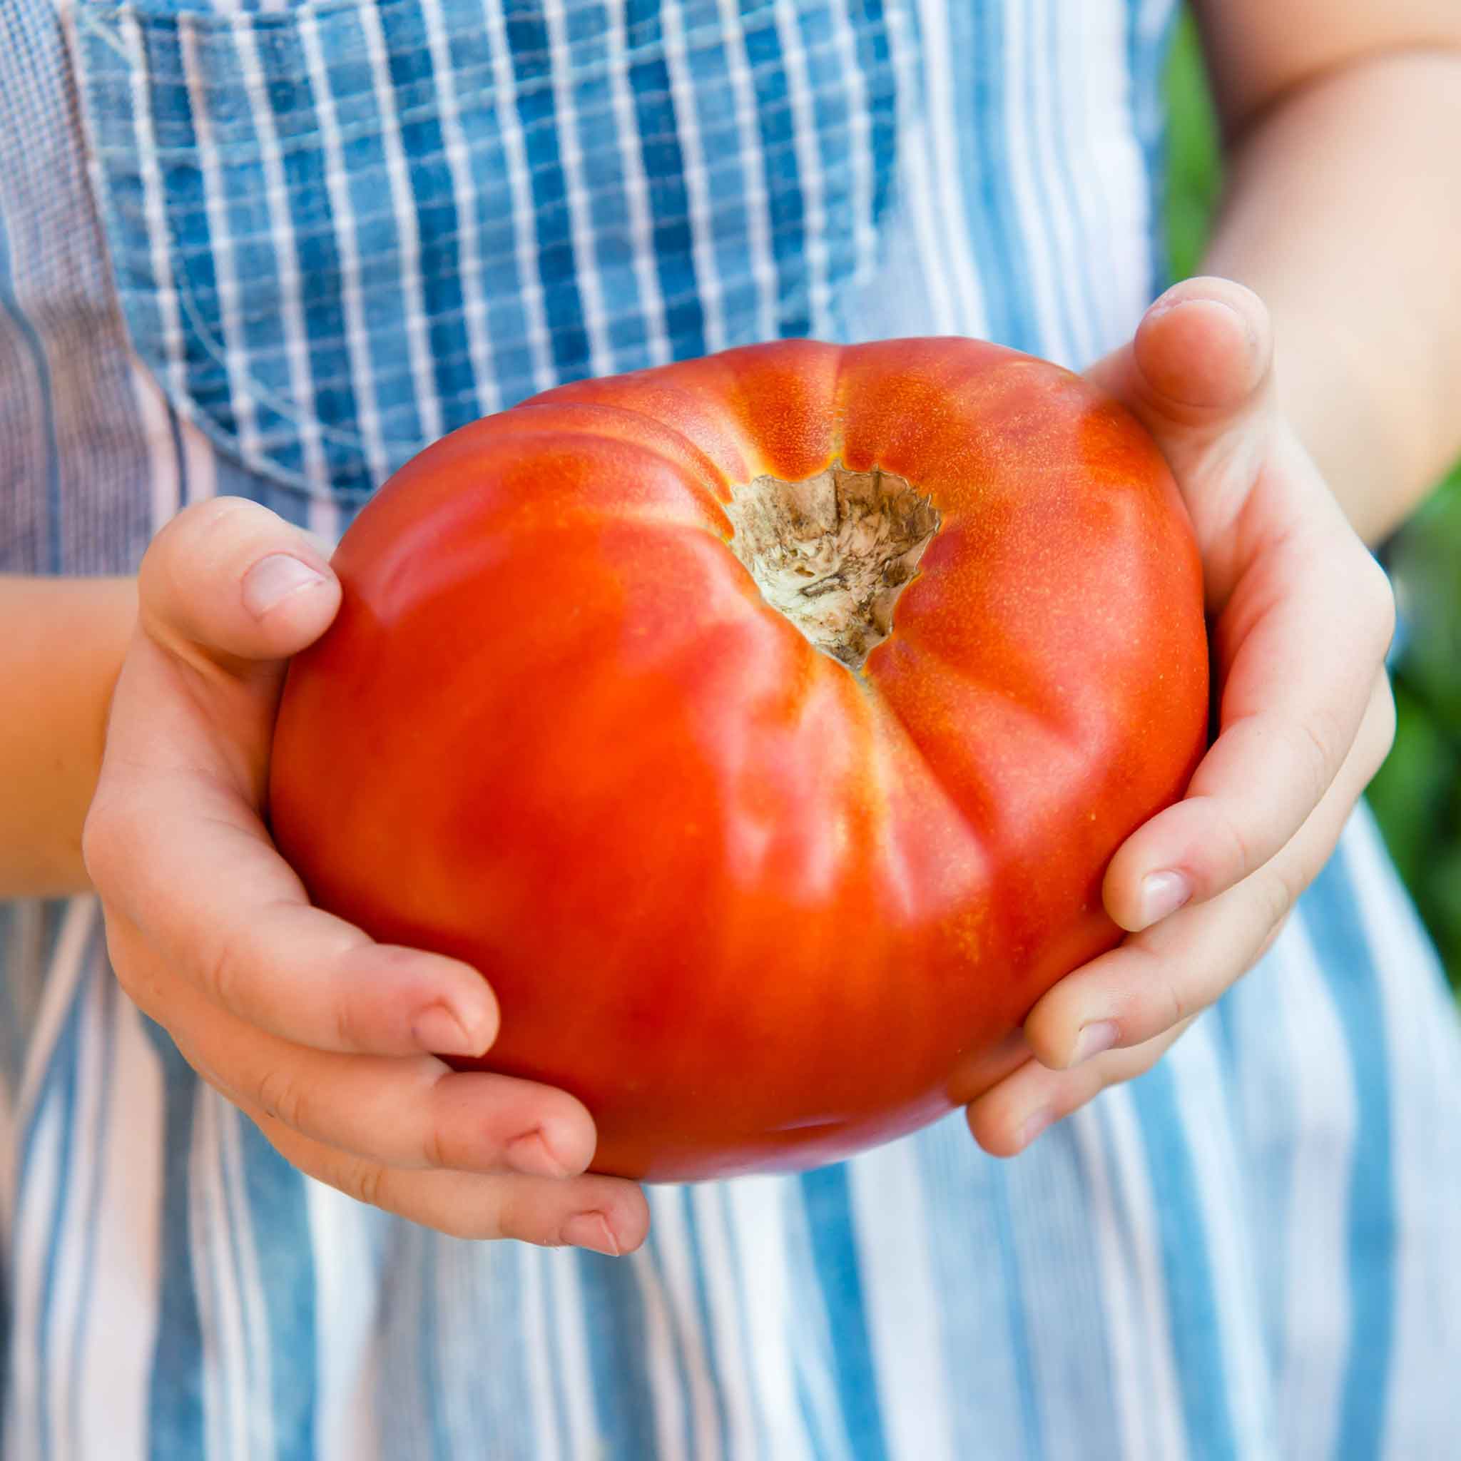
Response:
[[[1284,406],[1369,542],[1461,451],[1461,54],[1381,54],[1240,134],[1205,269],[1274,316]]]

